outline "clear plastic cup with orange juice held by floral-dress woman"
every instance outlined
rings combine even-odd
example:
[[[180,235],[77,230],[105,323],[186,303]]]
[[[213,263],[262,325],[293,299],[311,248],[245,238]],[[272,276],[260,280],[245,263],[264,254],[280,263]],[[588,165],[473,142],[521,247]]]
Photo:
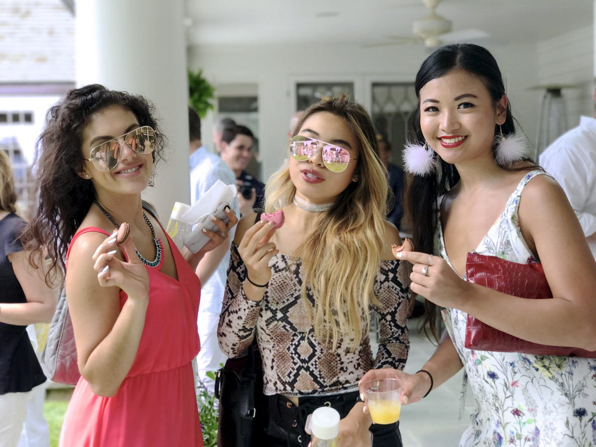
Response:
[[[393,424],[402,409],[402,382],[396,378],[378,378],[364,384],[368,412],[375,424]]]

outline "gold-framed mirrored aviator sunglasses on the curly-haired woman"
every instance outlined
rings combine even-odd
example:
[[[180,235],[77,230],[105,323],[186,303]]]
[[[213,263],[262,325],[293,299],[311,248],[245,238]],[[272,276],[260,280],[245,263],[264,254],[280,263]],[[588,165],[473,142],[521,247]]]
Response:
[[[155,150],[155,131],[150,126],[141,126],[127,134],[105,141],[91,150],[91,157],[86,159],[93,163],[96,169],[108,172],[114,169],[120,159],[120,138],[129,148],[139,154],[150,154]]]

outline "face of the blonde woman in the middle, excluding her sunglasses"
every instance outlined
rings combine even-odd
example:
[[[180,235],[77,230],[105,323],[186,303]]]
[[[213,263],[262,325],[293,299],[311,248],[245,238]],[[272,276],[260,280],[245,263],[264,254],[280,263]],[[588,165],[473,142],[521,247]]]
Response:
[[[358,163],[359,141],[347,123],[330,112],[317,112],[302,123],[298,135],[315,138],[346,149],[350,162],[343,172],[331,172],[322,160],[319,145],[316,154],[299,162],[290,157],[290,178],[296,186],[296,195],[311,203],[333,203],[353,181]]]

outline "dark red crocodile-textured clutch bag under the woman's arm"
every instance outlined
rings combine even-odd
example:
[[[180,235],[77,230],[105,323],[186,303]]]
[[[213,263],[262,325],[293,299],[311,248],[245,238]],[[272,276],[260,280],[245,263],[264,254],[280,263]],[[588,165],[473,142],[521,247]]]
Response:
[[[552,298],[547,277],[540,263],[520,264],[496,256],[470,252],[465,262],[465,275],[470,283],[508,295],[529,299]],[[497,352],[596,358],[596,351],[527,342],[499,331],[471,315],[468,315],[465,327],[465,347]]]

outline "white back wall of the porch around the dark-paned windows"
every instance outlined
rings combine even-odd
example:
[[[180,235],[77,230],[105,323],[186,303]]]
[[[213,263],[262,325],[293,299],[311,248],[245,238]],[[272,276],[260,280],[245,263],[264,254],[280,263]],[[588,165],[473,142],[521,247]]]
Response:
[[[539,94],[528,91],[537,82],[535,46],[489,48],[507,78],[513,114],[530,139],[535,138]],[[265,179],[280,166],[294,113],[293,83],[312,80],[353,80],[355,99],[370,108],[370,83],[378,80],[414,82],[430,52],[420,45],[359,48],[349,45],[268,45],[193,47],[188,65],[203,69],[217,88],[228,83],[256,83],[259,92],[260,161]],[[217,91],[216,91],[217,92]],[[213,114],[204,120],[209,143]]]

